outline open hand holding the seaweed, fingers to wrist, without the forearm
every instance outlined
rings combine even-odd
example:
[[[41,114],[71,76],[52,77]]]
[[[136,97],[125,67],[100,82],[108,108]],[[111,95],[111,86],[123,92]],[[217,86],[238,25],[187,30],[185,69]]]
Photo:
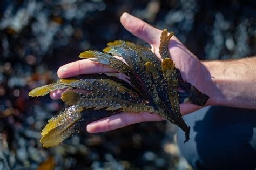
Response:
[[[128,30],[138,38],[143,39],[145,42],[149,43],[152,47],[152,51],[156,53],[159,59],[161,58],[158,49],[161,30],[154,28],[153,26],[143,22],[136,17],[129,15],[128,13],[123,13],[123,15],[121,16],[121,23],[126,30]],[[193,55],[192,52],[186,49],[186,47],[175,36],[170,39],[168,47],[171,58],[176,64],[176,67],[180,69],[183,79],[196,86],[197,89],[201,92],[208,94],[205,89],[205,87],[207,87],[207,84],[205,83],[205,77],[209,77],[210,74],[207,72],[207,69],[204,67],[204,65],[198,60],[196,56]],[[58,70],[58,77],[66,78],[79,74],[112,72],[114,71],[109,69],[107,66],[91,62],[89,59],[83,59],[60,67]],[[62,92],[63,91],[53,92],[51,94],[51,98],[60,98],[60,94]],[[207,105],[209,104],[211,104],[211,100],[208,100]],[[180,104],[180,112],[183,115],[198,110],[199,108],[200,106],[189,103]],[[165,119],[163,117],[160,117],[158,114],[150,114],[147,112],[120,113],[92,122],[87,125],[86,129],[90,133],[96,133],[114,130],[143,121],[160,120]]]

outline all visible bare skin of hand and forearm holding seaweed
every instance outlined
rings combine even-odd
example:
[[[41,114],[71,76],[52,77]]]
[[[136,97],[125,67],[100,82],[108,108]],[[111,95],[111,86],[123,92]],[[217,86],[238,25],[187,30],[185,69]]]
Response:
[[[120,21],[124,28],[134,36],[151,45],[151,50],[159,55],[161,30],[142,20],[123,13]],[[256,57],[230,61],[200,62],[175,36],[168,44],[170,56],[181,72],[183,79],[198,90],[207,94],[207,105],[224,105],[241,108],[256,108]],[[79,74],[113,73],[107,66],[91,62],[89,59],[78,60],[63,65],[58,70],[58,77],[66,78]],[[52,99],[59,99],[62,90],[50,94]],[[180,104],[182,115],[198,110],[201,106],[190,103]],[[165,120],[158,114],[148,112],[123,112],[94,121],[87,125],[90,133],[105,132],[144,121]]]

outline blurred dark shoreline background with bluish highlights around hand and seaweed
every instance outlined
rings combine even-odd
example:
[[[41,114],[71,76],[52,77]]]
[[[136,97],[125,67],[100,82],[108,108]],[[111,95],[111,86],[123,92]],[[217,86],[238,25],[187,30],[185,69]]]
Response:
[[[45,149],[48,119],[63,108],[30,98],[57,80],[59,66],[114,39],[145,44],[119,22],[129,12],[167,28],[201,60],[255,55],[255,1],[0,1],[0,169],[192,169],[175,144],[176,126],[140,123],[76,134]]]

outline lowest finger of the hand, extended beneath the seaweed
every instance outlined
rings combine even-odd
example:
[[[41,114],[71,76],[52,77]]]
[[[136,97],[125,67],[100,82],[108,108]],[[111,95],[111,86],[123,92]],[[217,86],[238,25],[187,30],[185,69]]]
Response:
[[[86,130],[89,133],[98,133],[115,130],[117,128],[122,128],[131,124],[136,124],[144,121],[160,121],[165,120],[158,114],[151,114],[148,112],[142,113],[131,113],[123,112],[119,114],[112,115],[104,119],[94,121],[87,125]]]

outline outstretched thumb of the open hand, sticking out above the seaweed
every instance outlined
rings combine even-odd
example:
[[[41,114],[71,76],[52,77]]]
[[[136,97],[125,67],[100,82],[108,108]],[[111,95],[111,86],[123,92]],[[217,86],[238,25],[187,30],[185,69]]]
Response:
[[[125,12],[121,16],[120,20],[127,31],[131,32],[134,36],[143,39],[151,46],[160,43],[161,31],[145,23],[141,19]]]

